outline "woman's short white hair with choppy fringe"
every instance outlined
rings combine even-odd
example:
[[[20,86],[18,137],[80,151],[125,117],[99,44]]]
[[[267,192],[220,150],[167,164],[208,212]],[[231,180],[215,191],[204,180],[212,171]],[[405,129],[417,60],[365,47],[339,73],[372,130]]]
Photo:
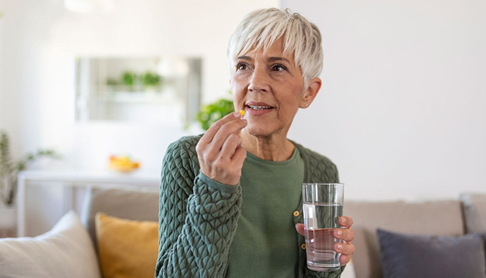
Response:
[[[276,40],[283,39],[283,54],[294,54],[294,63],[300,67],[304,89],[311,79],[322,71],[321,32],[319,28],[298,13],[287,8],[255,10],[244,17],[228,44],[228,70],[233,74],[235,61],[251,49],[267,49]]]

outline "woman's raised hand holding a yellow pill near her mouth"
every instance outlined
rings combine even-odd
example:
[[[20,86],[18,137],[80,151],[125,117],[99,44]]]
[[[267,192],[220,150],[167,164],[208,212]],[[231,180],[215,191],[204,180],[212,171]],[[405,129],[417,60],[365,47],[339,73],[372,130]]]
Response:
[[[197,158],[206,177],[230,186],[240,182],[246,150],[238,133],[245,126],[240,112],[234,112],[212,124],[199,140]]]

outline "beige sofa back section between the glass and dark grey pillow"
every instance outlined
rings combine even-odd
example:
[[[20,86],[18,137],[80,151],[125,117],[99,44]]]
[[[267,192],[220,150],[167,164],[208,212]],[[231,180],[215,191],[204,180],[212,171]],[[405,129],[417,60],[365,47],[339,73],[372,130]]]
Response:
[[[353,218],[357,278],[380,278],[380,246],[376,229],[436,236],[464,234],[458,200],[435,202],[344,202],[344,215]]]

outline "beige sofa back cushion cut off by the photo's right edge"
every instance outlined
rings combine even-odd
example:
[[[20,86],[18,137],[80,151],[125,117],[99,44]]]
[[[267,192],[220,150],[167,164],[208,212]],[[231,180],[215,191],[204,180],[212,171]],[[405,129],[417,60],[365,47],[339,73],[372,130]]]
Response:
[[[460,195],[467,233],[486,233],[486,194]]]

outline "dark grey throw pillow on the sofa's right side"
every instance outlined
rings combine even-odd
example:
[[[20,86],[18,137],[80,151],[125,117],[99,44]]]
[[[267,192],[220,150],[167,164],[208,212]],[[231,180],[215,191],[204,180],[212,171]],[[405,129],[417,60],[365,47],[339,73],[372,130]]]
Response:
[[[464,236],[419,236],[378,229],[384,278],[485,278],[483,239]]]

